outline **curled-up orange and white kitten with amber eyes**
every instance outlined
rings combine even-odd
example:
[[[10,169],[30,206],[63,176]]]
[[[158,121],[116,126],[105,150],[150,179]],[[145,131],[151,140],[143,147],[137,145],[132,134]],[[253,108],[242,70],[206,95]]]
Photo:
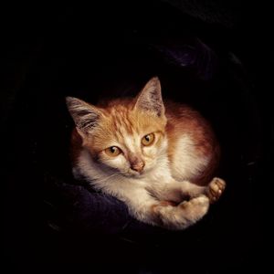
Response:
[[[66,100],[76,125],[74,176],[123,201],[138,220],[184,229],[222,195],[226,183],[213,177],[219,146],[211,127],[190,107],[163,103],[157,77],[134,99],[98,106]]]

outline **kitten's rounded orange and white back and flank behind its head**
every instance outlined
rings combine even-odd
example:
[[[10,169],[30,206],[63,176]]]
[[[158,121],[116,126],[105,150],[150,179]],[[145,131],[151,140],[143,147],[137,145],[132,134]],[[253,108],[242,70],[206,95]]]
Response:
[[[177,180],[207,184],[216,169],[219,146],[210,124],[184,104],[165,101],[168,157]]]

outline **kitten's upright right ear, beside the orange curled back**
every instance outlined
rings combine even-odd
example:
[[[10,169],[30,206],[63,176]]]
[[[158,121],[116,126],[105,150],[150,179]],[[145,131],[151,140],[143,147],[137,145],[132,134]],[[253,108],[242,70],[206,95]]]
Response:
[[[163,117],[164,106],[161,94],[161,83],[157,77],[150,79],[137,97],[134,108],[149,111],[158,117]]]

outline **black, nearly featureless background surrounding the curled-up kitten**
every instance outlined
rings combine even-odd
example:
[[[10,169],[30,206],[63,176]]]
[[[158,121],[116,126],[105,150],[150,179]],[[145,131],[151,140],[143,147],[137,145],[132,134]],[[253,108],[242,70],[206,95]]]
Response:
[[[10,271],[224,273],[265,267],[260,255],[267,240],[273,72],[268,7],[200,2],[2,9],[2,235]],[[189,66],[163,52],[184,52],[185,45],[200,54]],[[219,175],[227,181],[226,193],[183,232],[133,220],[115,230],[121,223],[110,214],[105,225],[89,227],[89,205],[81,195],[75,198],[69,186],[63,195],[55,186],[72,181],[72,122],[64,98],[96,103],[103,96],[134,95],[154,75],[163,97],[189,103],[211,121],[222,145]],[[79,211],[70,198],[82,205]],[[109,212],[120,210],[118,219],[127,215],[122,205],[110,203]]]

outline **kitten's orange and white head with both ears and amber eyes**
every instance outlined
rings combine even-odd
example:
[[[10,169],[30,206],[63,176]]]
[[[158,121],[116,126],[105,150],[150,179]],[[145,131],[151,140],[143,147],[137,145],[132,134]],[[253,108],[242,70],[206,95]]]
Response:
[[[148,81],[132,100],[114,100],[96,107],[68,97],[67,104],[82,146],[104,168],[139,177],[165,155],[166,118],[158,78]]]

